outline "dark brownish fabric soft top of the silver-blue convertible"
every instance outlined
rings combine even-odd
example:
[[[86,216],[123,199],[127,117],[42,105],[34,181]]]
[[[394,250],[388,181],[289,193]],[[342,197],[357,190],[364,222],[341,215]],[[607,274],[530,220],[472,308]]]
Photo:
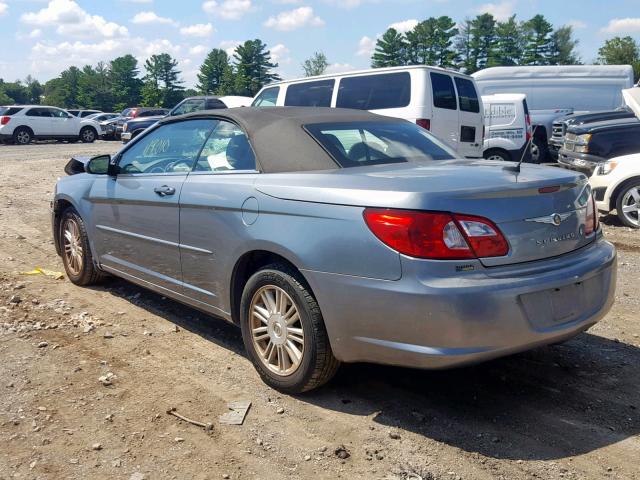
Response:
[[[324,107],[239,107],[204,110],[159,123],[172,123],[188,118],[221,118],[237,123],[249,137],[260,170],[265,173],[299,172],[340,168],[304,125],[317,123],[393,122],[406,120],[376,115],[365,110]]]

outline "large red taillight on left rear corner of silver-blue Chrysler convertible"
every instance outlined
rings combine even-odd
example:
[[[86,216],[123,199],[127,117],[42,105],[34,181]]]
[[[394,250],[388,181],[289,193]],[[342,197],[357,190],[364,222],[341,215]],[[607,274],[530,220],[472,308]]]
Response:
[[[363,215],[376,237],[411,257],[460,260],[509,252],[498,227],[486,218],[379,208],[367,208]]]

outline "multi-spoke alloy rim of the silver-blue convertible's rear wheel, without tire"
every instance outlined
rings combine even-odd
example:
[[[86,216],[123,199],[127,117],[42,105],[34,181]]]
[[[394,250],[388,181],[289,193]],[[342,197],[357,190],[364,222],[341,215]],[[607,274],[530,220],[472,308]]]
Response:
[[[293,374],[302,363],[304,330],[298,307],[289,294],[266,285],[253,295],[249,308],[251,338],[260,361],[279,376]]]

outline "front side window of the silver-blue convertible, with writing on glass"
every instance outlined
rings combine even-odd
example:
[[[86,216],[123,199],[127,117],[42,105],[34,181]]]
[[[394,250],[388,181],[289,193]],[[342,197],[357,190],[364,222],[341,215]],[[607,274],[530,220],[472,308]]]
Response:
[[[215,120],[187,120],[155,128],[124,151],[120,173],[186,173],[191,170]]]

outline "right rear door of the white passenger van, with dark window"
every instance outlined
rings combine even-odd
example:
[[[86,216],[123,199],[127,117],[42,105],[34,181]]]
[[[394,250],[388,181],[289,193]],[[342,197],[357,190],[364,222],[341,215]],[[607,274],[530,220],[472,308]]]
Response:
[[[465,157],[482,157],[483,114],[481,102],[472,80],[454,77],[458,94],[459,144],[458,152]]]

